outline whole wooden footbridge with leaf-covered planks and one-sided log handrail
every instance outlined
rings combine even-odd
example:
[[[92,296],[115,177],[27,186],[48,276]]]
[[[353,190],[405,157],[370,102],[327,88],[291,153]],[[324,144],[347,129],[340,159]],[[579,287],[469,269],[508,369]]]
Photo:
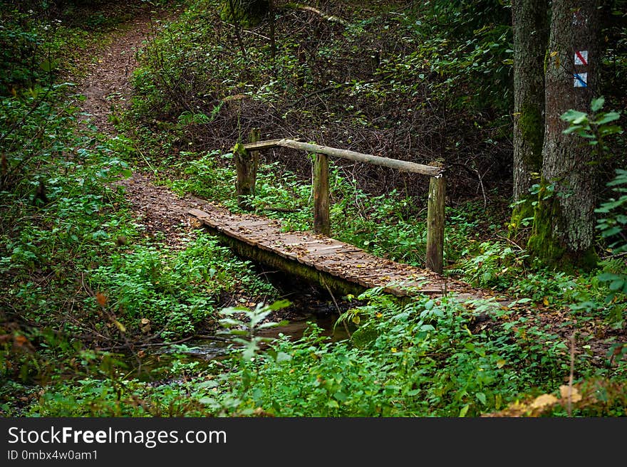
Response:
[[[256,214],[237,215],[209,206],[206,210],[192,209],[209,231],[229,244],[240,256],[251,258],[273,268],[279,268],[320,283],[329,291],[343,294],[358,293],[370,288],[381,288],[397,297],[418,294],[444,295],[448,291],[463,293],[467,285],[445,280],[442,273],[444,239],[445,178],[442,167],[415,164],[371,154],[313,145],[295,140],[269,140],[234,147],[237,166],[237,196],[239,206],[250,208],[249,197],[254,196],[259,150],[271,147],[290,147],[316,154],[314,163],[314,231],[285,232],[279,221]],[[431,177],[427,201],[427,258],[425,269],[396,263],[373,256],[361,248],[337,241],[330,236],[328,212],[328,156],[343,157],[384,167],[425,174]]]

